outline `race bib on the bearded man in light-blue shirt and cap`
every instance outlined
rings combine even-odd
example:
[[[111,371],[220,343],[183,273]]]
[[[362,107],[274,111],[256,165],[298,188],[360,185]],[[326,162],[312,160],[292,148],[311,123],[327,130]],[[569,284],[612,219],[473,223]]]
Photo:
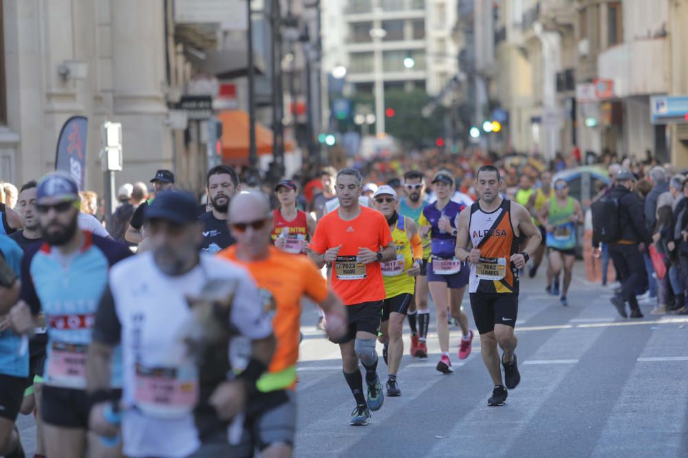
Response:
[[[47,378],[51,385],[83,388],[86,386],[87,345],[53,342]]]

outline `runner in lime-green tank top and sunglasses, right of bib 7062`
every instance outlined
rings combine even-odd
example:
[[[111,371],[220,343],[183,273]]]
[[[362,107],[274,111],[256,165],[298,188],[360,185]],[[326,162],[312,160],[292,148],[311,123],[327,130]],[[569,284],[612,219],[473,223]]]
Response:
[[[581,203],[568,195],[568,183],[565,180],[555,182],[555,193],[556,196],[550,198],[540,209],[540,220],[547,221],[547,287],[552,286],[553,278],[559,277],[563,266],[563,288],[559,301],[562,306],[568,306],[566,294],[576,260],[576,231],[577,225],[583,224],[583,210]]]

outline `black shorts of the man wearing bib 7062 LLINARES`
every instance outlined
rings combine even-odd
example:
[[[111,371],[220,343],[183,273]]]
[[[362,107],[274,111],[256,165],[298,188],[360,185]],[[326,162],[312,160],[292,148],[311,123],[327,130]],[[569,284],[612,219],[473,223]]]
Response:
[[[515,328],[518,316],[517,293],[471,293],[473,321],[480,334],[495,330],[495,324]]]

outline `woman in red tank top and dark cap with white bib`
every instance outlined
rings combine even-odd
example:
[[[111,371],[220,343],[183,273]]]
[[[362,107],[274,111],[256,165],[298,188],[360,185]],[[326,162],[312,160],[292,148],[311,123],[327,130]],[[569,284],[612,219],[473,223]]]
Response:
[[[283,180],[275,186],[279,208],[272,211],[275,227],[272,241],[286,253],[306,253],[308,240],[315,232],[315,221],[305,211],[297,210],[297,185]]]

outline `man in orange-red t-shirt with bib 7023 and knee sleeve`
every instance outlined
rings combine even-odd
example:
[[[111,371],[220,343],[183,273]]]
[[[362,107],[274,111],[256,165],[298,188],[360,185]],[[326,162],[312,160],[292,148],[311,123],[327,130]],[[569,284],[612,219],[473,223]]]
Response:
[[[344,378],[356,399],[350,421],[354,426],[367,424],[370,410],[380,409],[385,399],[375,350],[385,299],[380,262],[396,259],[387,219],[379,211],[358,203],[362,191],[358,170],[339,171],[335,185],[339,208],[319,220],[309,253],[319,268],[333,264],[332,290],[341,297],[349,313],[347,334],[343,339],[330,341],[339,344]],[[367,402],[359,359],[365,367]]]

